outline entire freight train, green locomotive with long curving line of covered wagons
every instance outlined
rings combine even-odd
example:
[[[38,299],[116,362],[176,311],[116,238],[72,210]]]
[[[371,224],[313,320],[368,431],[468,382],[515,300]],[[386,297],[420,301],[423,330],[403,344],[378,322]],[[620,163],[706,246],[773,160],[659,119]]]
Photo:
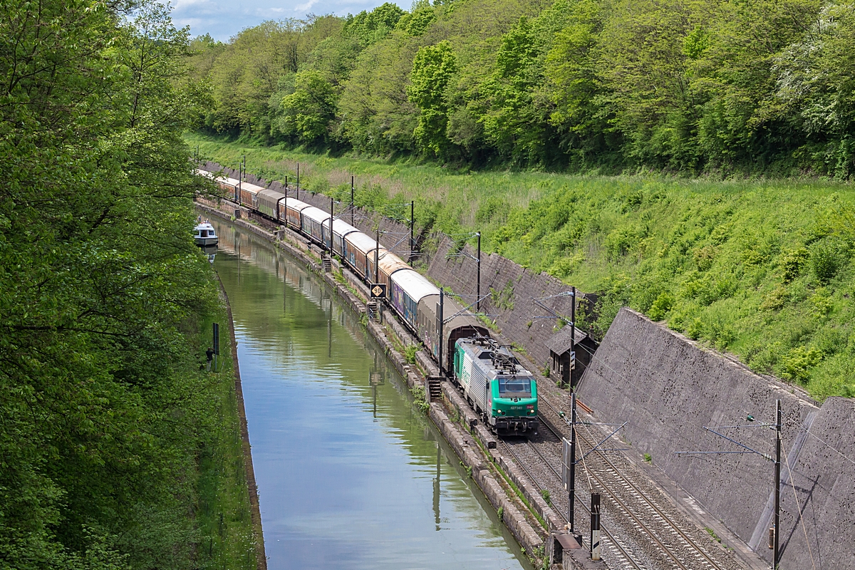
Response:
[[[197,173],[213,180],[228,200],[296,230],[339,256],[366,283],[374,283],[376,277],[386,285],[392,309],[433,355],[440,373],[451,371],[494,432],[528,435],[537,431],[534,376],[490,338],[486,327],[460,303],[447,296],[440,300],[439,289],[404,260],[344,220],[280,191],[204,170]],[[441,327],[440,314],[444,317]]]

